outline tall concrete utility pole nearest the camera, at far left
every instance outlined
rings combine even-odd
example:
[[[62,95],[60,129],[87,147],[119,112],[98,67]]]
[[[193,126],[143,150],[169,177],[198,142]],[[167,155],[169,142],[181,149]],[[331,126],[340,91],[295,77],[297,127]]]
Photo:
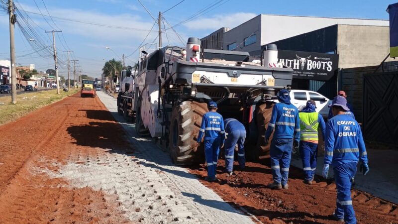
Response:
[[[14,46],[14,28],[16,15],[14,14],[13,0],[8,0],[9,13],[9,50],[11,54],[11,103],[16,104],[16,70],[15,70],[15,46]]]

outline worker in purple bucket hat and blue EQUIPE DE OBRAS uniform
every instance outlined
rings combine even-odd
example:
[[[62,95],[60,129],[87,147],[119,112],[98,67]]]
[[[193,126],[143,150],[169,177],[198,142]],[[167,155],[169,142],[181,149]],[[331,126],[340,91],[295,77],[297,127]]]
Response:
[[[323,177],[327,179],[329,165],[333,167],[337,188],[336,210],[333,218],[346,224],[356,224],[351,200],[350,179],[357,172],[358,160],[363,175],[369,172],[368,157],[358,122],[344,112],[350,109],[342,96],[333,99],[333,118],[327,121]]]

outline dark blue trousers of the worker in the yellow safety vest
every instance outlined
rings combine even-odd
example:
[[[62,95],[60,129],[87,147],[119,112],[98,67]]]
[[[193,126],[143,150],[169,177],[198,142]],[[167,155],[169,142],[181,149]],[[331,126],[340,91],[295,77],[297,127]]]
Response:
[[[316,169],[316,157],[318,156],[318,144],[308,141],[300,141],[300,157],[302,170],[304,171],[304,180],[314,179]]]

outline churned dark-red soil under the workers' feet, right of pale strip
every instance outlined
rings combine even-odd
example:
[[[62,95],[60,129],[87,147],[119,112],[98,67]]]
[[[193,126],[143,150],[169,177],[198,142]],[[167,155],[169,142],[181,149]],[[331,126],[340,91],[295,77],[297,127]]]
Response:
[[[266,186],[272,182],[271,168],[267,165],[247,162],[243,171],[236,175],[221,173],[224,160],[217,167],[217,181],[208,183],[226,202],[241,207],[255,215],[263,223],[334,224],[330,215],[336,207],[336,185],[317,181],[313,185],[302,182],[302,170],[291,167],[289,190],[271,190]],[[206,167],[193,167],[191,173],[206,177]],[[238,169],[237,162],[234,169]],[[360,224],[397,224],[397,205],[352,190],[354,210]]]

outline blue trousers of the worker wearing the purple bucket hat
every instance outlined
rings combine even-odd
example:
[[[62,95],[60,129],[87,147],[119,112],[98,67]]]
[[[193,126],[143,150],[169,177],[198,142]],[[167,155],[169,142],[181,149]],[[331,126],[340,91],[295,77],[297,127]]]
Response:
[[[350,162],[338,165],[333,168],[334,181],[337,189],[335,215],[339,219],[344,219],[346,224],[356,224],[354,207],[351,200],[351,178],[357,172],[357,163]]]

